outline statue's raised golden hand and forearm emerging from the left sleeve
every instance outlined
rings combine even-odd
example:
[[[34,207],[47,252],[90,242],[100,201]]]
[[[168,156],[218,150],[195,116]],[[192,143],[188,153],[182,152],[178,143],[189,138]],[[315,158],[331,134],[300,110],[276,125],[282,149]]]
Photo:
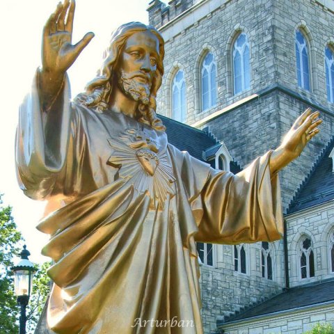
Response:
[[[93,33],[86,33],[84,38],[72,45],[74,9],[74,0],[58,3],[43,29],[42,68],[38,85],[41,106],[45,110],[53,104],[61,90],[65,72],[94,37]]]

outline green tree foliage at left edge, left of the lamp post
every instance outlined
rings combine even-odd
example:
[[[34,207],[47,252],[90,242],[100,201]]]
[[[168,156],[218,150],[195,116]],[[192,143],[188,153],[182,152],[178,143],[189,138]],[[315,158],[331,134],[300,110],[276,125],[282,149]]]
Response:
[[[0,333],[17,334],[18,308],[13,291],[13,256],[19,254],[22,235],[12,217],[12,208],[3,207],[0,195]]]

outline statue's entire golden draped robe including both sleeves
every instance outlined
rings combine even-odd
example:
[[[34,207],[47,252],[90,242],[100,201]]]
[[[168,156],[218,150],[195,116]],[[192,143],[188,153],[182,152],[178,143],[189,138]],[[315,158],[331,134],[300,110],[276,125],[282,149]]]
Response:
[[[279,239],[271,152],[217,171],[122,113],[70,102],[51,110],[35,86],[17,129],[17,177],[47,200],[38,230],[54,260],[47,321],[59,334],[203,333],[196,241]]]

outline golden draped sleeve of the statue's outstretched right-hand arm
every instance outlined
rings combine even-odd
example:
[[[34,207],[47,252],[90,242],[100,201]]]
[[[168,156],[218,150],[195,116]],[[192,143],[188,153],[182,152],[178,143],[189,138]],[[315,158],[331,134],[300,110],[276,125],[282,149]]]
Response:
[[[237,244],[274,241],[283,234],[278,175],[269,170],[271,152],[237,175],[210,168],[200,196],[202,205],[196,241]]]

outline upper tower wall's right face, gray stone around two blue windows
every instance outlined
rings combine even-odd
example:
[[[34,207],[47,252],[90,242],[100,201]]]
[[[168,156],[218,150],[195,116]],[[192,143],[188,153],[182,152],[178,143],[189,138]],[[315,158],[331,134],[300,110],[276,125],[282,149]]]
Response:
[[[334,111],[327,101],[324,49],[334,41],[334,13],[318,1],[275,1],[273,6],[274,66],[277,81]],[[309,46],[311,91],[298,87],[295,33],[301,29]]]

